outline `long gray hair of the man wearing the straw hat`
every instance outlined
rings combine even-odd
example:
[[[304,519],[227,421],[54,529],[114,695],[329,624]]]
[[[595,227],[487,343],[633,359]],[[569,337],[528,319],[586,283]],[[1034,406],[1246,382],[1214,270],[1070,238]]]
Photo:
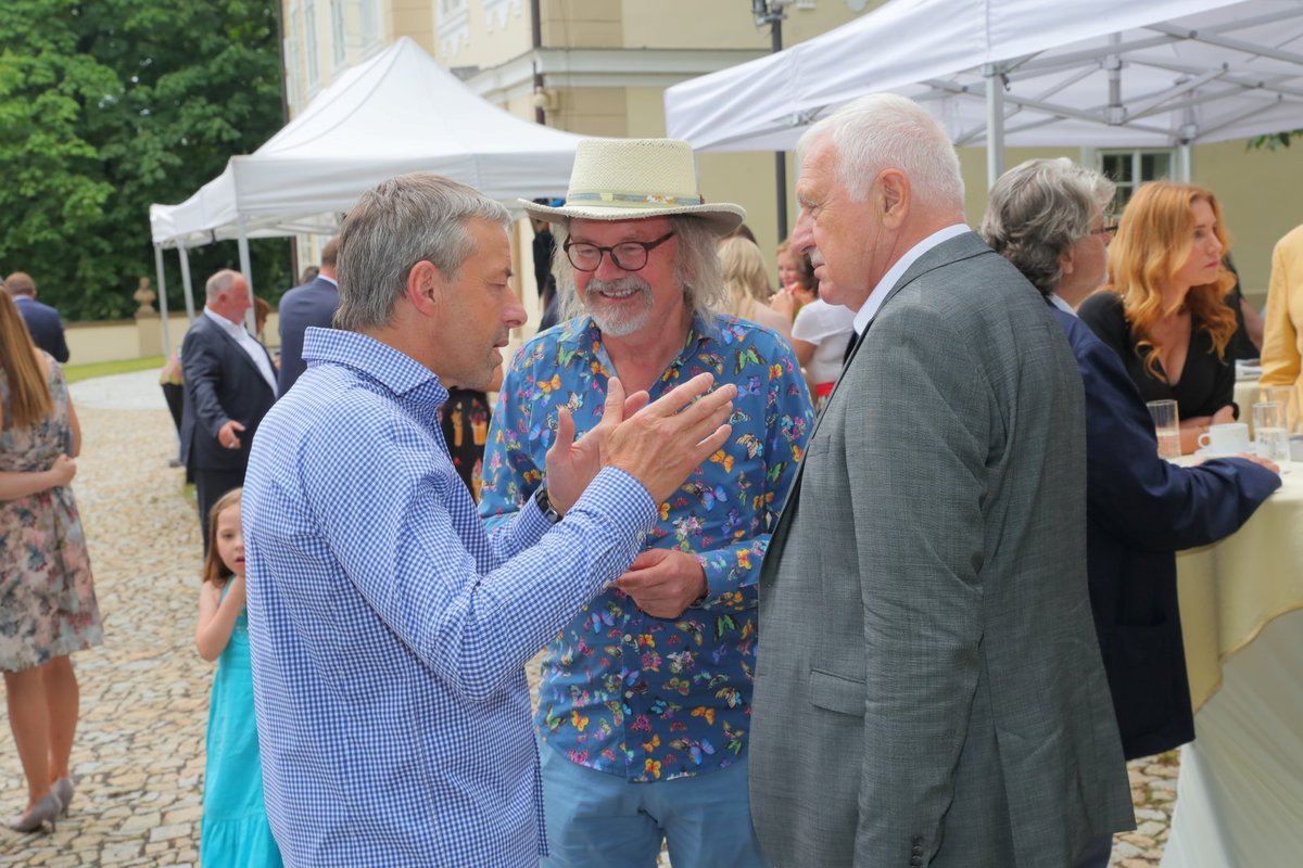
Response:
[[[726,299],[723,267],[719,264],[719,236],[704,220],[689,216],[671,216],[670,229],[679,243],[674,273],[683,286],[683,298],[694,315],[709,323]],[[562,319],[584,316],[584,301],[575,290],[575,265],[566,256],[569,221],[554,224],[552,233],[556,237],[552,273],[556,276],[556,292],[560,293]]]

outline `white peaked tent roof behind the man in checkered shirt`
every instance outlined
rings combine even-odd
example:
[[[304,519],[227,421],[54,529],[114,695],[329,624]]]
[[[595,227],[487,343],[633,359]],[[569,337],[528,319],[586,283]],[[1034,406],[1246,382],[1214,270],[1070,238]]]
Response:
[[[238,236],[334,232],[367,189],[437,172],[485,195],[566,191],[579,135],[491,105],[400,38],[347,70],[304,112],[186,202],[150,206],[154,242],[199,246]]]

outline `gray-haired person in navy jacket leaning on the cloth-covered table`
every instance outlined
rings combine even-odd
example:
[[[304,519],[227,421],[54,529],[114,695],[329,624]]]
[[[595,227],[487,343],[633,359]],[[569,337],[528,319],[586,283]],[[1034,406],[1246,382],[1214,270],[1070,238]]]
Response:
[[[1281,484],[1255,455],[1178,467],[1118,355],[1072,310],[1104,280],[1113,182],[1029,160],[989,195],[981,234],[1054,306],[1085,387],[1087,574],[1127,759],[1195,738],[1174,553],[1240,527]],[[1105,852],[1105,861],[1106,861]]]

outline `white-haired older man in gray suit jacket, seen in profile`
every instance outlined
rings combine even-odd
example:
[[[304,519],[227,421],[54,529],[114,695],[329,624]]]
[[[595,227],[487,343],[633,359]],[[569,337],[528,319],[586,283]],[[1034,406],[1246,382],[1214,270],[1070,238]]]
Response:
[[[963,224],[919,105],[856,100],[799,154],[792,246],[861,337],[760,579],[761,845],[779,867],[1074,865],[1134,820],[1072,353]]]

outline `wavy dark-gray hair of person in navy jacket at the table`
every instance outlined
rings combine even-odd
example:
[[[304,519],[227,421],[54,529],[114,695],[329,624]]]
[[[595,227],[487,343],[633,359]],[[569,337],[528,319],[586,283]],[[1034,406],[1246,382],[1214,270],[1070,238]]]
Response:
[[[1042,295],[1063,280],[1059,256],[1091,234],[1113,202],[1114,183],[1067,157],[1028,160],[995,181],[979,233]]]

